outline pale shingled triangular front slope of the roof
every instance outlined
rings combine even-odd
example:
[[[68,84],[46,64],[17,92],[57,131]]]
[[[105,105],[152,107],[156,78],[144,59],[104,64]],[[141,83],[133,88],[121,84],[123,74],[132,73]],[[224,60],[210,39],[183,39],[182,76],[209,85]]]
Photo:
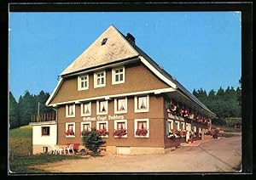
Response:
[[[106,42],[102,45],[103,39]],[[61,76],[96,65],[105,65],[121,59],[133,58],[137,55],[137,51],[132,48],[130,43],[127,43],[125,37],[113,25],[110,25],[84,53],[62,71]]]

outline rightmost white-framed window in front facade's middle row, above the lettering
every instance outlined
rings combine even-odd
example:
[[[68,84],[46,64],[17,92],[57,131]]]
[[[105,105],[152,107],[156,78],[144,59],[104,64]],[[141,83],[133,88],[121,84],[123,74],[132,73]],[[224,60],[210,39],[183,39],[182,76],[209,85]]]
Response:
[[[149,110],[149,96],[134,97],[134,112],[148,112]]]

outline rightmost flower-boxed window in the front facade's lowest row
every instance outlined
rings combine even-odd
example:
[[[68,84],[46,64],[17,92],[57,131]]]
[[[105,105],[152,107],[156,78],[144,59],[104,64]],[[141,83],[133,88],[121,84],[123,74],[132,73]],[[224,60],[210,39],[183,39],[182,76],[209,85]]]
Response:
[[[134,120],[135,138],[149,138],[149,119]]]

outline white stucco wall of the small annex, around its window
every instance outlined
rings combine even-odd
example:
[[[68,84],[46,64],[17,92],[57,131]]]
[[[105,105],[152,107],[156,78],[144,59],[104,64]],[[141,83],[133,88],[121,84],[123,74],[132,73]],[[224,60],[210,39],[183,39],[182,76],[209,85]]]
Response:
[[[49,136],[42,136],[42,127],[49,127]],[[32,128],[32,143],[33,145],[55,145],[57,142],[57,125],[56,124],[41,124],[33,125]]]

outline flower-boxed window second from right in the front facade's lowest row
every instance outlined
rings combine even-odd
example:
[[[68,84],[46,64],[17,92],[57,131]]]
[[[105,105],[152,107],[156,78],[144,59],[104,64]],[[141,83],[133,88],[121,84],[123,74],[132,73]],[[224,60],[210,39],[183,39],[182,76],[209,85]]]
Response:
[[[115,120],[113,128],[114,138],[127,138],[127,120]]]

